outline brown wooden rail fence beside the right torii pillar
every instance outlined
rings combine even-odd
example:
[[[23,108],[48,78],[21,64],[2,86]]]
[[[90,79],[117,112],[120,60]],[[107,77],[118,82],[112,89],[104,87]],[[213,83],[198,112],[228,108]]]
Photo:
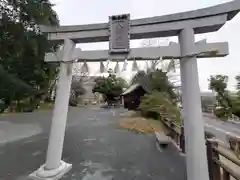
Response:
[[[184,128],[171,120],[162,122],[169,129],[169,136],[185,153]],[[205,132],[207,160],[210,180],[240,180],[240,138],[228,135],[229,144],[224,144]]]

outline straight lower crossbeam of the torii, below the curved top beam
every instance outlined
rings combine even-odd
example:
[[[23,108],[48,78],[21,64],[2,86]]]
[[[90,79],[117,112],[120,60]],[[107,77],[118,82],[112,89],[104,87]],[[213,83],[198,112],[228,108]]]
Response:
[[[197,58],[224,57],[228,55],[228,43],[206,43],[206,41],[196,42],[195,55]],[[132,48],[128,55],[109,55],[108,50],[82,51],[75,48],[71,58],[67,61],[124,61],[127,60],[155,60],[159,59],[180,59],[181,51],[178,43],[170,43],[168,46]],[[62,60],[63,51],[57,53],[47,53],[46,62],[59,62]]]

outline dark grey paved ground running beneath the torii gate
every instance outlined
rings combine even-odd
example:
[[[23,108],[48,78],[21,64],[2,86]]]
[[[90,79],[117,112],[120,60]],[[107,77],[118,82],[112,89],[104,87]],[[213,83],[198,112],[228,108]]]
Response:
[[[63,160],[73,168],[62,180],[186,180],[185,159],[173,146],[159,150],[153,135],[119,129],[122,110],[114,111],[70,109]],[[44,163],[51,113],[40,114],[41,133],[0,145],[0,180],[26,180]]]

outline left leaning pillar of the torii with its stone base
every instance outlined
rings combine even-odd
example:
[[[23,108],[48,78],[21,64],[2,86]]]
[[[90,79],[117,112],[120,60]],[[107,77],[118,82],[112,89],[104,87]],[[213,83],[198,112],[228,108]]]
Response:
[[[52,125],[48,142],[46,163],[29,175],[33,180],[57,180],[67,173],[72,165],[61,160],[68,102],[72,81],[72,62],[67,62],[75,48],[75,43],[64,40],[63,59],[60,64],[59,84],[53,110]]]

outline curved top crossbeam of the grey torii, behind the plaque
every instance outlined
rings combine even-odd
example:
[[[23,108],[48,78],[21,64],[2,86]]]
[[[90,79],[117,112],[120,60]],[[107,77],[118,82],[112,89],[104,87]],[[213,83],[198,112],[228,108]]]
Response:
[[[194,29],[195,34],[219,30],[228,20],[240,11],[240,1],[151,18],[130,21],[131,39],[177,36],[185,27]],[[75,43],[103,42],[109,40],[108,23],[46,27],[41,31],[48,33],[48,39],[63,41],[72,39]]]

